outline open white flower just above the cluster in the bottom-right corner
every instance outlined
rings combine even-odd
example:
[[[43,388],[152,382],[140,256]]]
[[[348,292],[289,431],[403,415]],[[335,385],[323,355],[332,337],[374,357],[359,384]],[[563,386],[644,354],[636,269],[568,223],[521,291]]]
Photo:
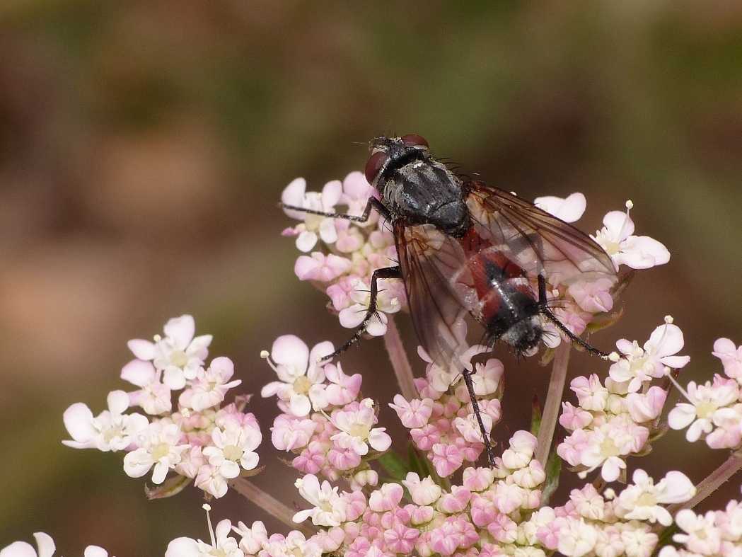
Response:
[[[684,503],[695,495],[695,486],[682,472],[668,472],[654,485],[654,480],[644,470],[637,469],[632,480],[634,485],[624,489],[616,499],[616,514],[622,518],[669,526],[672,516],[660,504]]]

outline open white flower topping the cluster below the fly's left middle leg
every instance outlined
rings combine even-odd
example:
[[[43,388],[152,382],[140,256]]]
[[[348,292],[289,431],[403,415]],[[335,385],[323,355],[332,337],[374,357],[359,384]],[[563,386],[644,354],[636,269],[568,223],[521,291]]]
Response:
[[[260,396],[278,395],[286,406],[285,411],[299,417],[309,414],[312,408],[326,408],[324,363],[320,360],[332,351],[332,342],[320,342],[310,352],[298,336],[279,336],[273,342],[270,357],[267,353],[263,356],[280,381],[268,383]]]

